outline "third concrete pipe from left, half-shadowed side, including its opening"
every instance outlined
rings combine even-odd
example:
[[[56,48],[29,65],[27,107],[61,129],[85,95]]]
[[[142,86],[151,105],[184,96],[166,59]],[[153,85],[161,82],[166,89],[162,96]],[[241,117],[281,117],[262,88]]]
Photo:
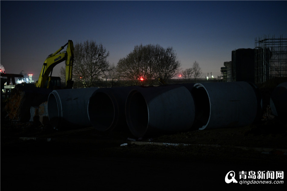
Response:
[[[127,97],[127,124],[138,138],[153,133],[189,130],[194,117],[193,97],[181,85],[136,89]]]

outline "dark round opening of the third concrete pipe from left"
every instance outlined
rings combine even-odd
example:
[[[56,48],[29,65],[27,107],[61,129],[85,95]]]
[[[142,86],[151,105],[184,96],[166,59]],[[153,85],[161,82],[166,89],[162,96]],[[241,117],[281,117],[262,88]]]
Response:
[[[139,91],[134,90],[128,95],[126,105],[127,125],[131,133],[137,137],[143,137],[149,123],[146,100]]]

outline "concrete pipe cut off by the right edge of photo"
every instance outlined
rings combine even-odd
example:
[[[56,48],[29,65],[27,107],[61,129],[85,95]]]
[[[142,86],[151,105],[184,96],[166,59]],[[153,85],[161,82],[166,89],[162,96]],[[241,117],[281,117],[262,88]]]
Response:
[[[287,120],[287,82],[279,84],[272,91],[270,107],[275,116]]]

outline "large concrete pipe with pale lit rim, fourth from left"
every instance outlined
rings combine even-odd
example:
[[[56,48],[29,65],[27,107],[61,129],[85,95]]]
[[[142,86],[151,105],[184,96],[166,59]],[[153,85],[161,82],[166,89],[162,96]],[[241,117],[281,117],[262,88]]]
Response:
[[[200,130],[250,125],[259,112],[260,99],[247,82],[197,83],[192,95]]]

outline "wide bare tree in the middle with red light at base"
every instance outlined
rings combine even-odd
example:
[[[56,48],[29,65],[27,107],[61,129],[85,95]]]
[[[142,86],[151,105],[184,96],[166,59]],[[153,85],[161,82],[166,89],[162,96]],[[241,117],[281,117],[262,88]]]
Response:
[[[180,63],[172,48],[159,45],[135,46],[133,52],[118,62],[118,72],[122,78],[134,85],[151,85],[159,77],[172,78],[179,72]]]

